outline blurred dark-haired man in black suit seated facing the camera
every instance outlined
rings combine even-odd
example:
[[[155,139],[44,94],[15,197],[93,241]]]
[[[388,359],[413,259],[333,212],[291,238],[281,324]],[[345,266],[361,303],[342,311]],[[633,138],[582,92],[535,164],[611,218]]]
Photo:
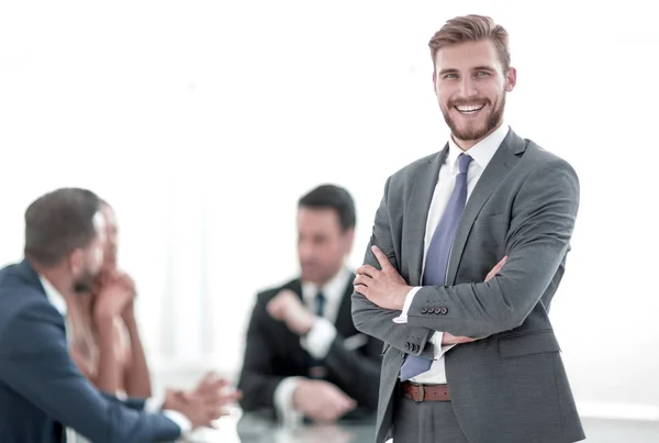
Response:
[[[382,343],[350,315],[355,234],[347,190],[324,185],[299,200],[301,276],[257,296],[238,388],[246,411],[333,422],[375,411]]]

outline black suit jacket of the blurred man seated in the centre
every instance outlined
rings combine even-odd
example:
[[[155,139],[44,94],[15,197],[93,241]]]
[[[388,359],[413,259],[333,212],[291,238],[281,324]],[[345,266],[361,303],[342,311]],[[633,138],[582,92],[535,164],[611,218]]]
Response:
[[[336,317],[337,335],[324,365],[326,380],[336,385],[357,400],[362,410],[375,411],[378,406],[378,386],[382,342],[370,336],[366,345],[356,350],[344,347],[344,341],[359,332],[350,317],[353,279],[346,287]],[[309,374],[310,354],[301,346],[300,337],[288,330],[283,322],[273,320],[267,312],[268,302],[282,289],[291,289],[302,298],[300,279],[282,287],[258,294],[247,330],[245,359],[238,388],[243,390],[241,406],[245,411],[268,408],[275,413],[273,395],[286,377]]]

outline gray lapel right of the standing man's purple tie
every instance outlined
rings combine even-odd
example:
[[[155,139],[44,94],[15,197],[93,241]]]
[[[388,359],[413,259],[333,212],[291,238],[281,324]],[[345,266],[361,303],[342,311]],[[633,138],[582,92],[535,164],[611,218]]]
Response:
[[[515,155],[524,152],[525,147],[524,140],[511,129],[473,188],[465,207],[465,212],[462,212],[458,230],[456,231],[456,237],[448,261],[448,270],[446,272],[447,285],[455,284],[458,265],[462,258],[465,245],[467,244],[467,239],[469,237],[469,232],[476,217],[516,163],[517,157]]]

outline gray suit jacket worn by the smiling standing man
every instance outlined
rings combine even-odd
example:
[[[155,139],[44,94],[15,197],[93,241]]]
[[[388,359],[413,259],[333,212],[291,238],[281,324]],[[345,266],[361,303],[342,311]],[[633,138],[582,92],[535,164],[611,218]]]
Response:
[[[365,263],[378,245],[411,286],[421,286],[427,213],[448,145],[391,176]],[[353,294],[356,328],[384,342],[377,441],[391,431],[405,353],[433,355],[435,331],[485,337],[446,357],[457,419],[471,443],[567,443],[584,439],[559,344],[547,317],[563,275],[579,180],[563,159],[512,130],[473,189],[458,226],[447,286],[424,287],[410,308],[377,307]],[[483,283],[504,256],[503,269]]]

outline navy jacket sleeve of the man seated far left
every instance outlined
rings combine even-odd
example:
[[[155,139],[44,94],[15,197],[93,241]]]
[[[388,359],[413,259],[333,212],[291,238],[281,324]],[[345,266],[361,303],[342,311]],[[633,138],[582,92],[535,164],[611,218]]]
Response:
[[[165,416],[127,408],[89,384],[69,357],[64,322],[52,307],[23,310],[4,334],[11,340],[0,346],[0,379],[64,427],[99,443],[180,436],[180,429]]]

